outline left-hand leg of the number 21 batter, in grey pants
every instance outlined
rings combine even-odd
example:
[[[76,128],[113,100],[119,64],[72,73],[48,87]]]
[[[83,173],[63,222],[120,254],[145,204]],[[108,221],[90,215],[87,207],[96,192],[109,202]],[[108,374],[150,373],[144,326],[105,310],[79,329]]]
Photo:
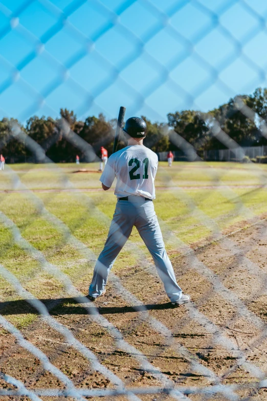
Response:
[[[100,297],[104,291],[107,276],[115,259],[131,234],[135,215],[127,201],[118,201],[109,227],[107,240],[98,257],[94,269],[94,276],[89,287],[89,296]]]

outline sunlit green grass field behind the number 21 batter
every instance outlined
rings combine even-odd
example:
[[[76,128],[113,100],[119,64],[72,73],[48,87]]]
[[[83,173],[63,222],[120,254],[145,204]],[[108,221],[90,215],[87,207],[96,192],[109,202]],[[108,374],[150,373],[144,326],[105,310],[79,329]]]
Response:
[[[98,256],[116,198],[112,189],[106,193],[100,189],[98,164],[80,164],[78,168],[87,168],[90,172],[74,173],[77,171],[75,164],[7,166],[0,172],[0,211],[16,224],[21,235],[40,250],[47,261],[66,273],[86,293],[93,263],[88,263],[77,249],[66,243],[62,232],[40,214],[42,204]],[[170,258],[179,254],[178,239],[195,246],[211,238],[211,228],[206,224],[208,218],[223,231],[231,227],[236,229],[241,222],[267,212],[266,189],[260,187],[266,182],[266,169],[265,165],[215,162],[176,162],[168,168],[167,163],[161,162],[154,205]],[[28,192],[27,188],[33,192]],[[200,220],[195,206],[203,213]],[[174,236],[170,236],[170,230]],[[151,261],[133,229],[130,242],[115,263],[114,272],[143,263],[132,251],[133,244],[137,244]],[[21,249],[3,219],[0,256],[2,265],[37,298],[53,298],[63,293],[62,283],[44,272],[37,261]],[[15,299],[18,296],[12,286],[0,280],[0,302]],[[12,312],[7,318],[17,327],[25,327],[36,319],[36,315]]]

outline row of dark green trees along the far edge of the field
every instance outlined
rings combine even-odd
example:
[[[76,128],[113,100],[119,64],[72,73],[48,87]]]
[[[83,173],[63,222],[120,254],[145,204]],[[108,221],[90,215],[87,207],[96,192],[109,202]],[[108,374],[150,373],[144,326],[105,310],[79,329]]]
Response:
[[[254,112],[251,112],[254,111]],[[183,110],[167,115],[168,123],[152,123],[146,117],[147,137],[144,144],[154,152],[177,151],[177,142],[173,140],[173,131],[194,146],[198,155],[203,157],[205,151],[225,149],[226,144],[216,135],[214,127],[220,126],[230,138],[241,146],[266,145],[265,121],[267,121],[267,89],[257,88],[252,95],[239,95],[208,113],[195,110]],[[70,129],[90,144],[100,155],[100,146],[108,154],[112,153],[117,120],[106,120],[103,114],[98,117],[87,117],[85,121],[77,120],[73,111],[60,110],[60,117],[31,117],[25,126],[13,118],[0,121],[0,153],[8,162],[40,161],[36,160],[24,140],[18,140],[16,130],[19,127],[24,134],[42,146],[43,153],[54,162],[73,162],[76,154],[81,161],[86,155],[74,141],[64,135],[62,121]],[[14,130],[16,127],[16,130]],[[123,140],[119,148],[125,146]]]

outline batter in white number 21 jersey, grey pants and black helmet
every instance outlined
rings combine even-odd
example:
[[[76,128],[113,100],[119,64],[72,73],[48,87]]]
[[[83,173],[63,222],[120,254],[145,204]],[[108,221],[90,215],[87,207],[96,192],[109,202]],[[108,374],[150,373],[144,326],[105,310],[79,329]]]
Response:
[[[143,145],[146,123],[142,118],[129,118],[123,131],[128,145],[108,158],[100,177],[104,191],[117,178],[115,195],[118,201],[104,249],[96,262],[88,297],[95,301],[105,294],[108,273],[129,238],[132,227],[136,226],[154,260],[171,303],[183,305],[190,298],[183,294],[176,282],[154,211],[154,179],[158,156]]]

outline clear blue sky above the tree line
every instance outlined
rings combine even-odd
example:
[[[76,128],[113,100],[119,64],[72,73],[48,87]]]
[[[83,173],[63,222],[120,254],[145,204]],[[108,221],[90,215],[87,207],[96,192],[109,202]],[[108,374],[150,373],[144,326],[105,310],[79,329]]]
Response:
[[[2,0],[0,118],[208,111],[265,87],[264,0]]]

